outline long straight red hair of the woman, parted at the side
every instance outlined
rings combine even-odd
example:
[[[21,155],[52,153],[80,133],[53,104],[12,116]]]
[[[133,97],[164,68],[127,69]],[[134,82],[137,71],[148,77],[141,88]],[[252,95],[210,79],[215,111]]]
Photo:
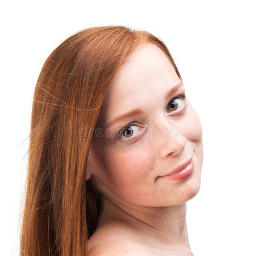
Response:
[[[101,209],[98,190],[86,181],[92,134],[114,74],[149,43],[181,79],[161,39],[125,26],[86,28],[45,60],[33,96],[20,255],[89,255]]]

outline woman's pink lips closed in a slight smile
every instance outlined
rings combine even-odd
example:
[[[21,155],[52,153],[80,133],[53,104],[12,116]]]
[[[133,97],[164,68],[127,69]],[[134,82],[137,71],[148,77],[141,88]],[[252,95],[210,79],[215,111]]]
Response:
[[[188,165],[190,165],[190,167],[186,168]],[[174,179],[174,180],[186,179],[188,176],[190,176],[193,170],[194,170],[194,161],[193,161],[193,158],[191,158],[190,160],[186,161],[186,163],[179,166],[176,170],[172,171],[171,173],[165,176],[160,176],[160,177],[164,179]]]

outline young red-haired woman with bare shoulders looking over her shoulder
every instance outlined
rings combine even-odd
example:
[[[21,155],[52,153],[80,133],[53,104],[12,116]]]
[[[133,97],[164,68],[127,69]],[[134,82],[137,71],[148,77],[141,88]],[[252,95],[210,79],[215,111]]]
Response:
[[[166,45],[77,32],[46,59],[31,116],[21,255],[193,255],[202,127]]]

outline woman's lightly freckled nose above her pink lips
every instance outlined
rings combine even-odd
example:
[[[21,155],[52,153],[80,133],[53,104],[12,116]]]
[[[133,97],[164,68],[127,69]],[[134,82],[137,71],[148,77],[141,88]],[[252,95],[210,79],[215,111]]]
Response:
[[[176,156],[184,151],[187,138],[183,136],[181,127],[178,124],[171,126],[168,122],[158,123],[160,134],[157,138],[159,156],[166,157],[170,154]]]

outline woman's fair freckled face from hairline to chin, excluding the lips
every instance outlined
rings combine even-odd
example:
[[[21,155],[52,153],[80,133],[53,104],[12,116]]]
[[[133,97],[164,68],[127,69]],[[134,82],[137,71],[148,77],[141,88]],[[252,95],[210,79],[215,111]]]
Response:
[[[166,97],[176,85],[178,90]],[[105,197],[123,204],[171,206],[196,196],[203,165],[202,127],[189,96],[171,100],[179,95],[185,95],[184,85],[153,44],[143,45],[116,73],[100,110],[87,169],[87,178]],[[141,111],[113,122],[133,109]],[[191,157],[191,176],[159,177]]]

